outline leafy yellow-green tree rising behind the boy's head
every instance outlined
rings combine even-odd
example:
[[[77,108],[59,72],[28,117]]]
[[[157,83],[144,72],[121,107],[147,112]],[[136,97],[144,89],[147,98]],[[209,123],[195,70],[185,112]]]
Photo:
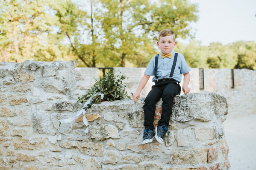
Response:
[[[148,57],[152,57],[153,44],[156,43],[152,37],[156,40],[163,28],[173,29],[177,37],[187,37],[190,36],[188,23],[197,20],[196,6],[186,0],[160,0],[156,3],[150,3],[149,0],[101,2],[105,8],[102,29],[106,48],[115,51],[122,67],[125,67],[127,57],[132,61],[140,56],[134,49],[145,52],[151,50]]]

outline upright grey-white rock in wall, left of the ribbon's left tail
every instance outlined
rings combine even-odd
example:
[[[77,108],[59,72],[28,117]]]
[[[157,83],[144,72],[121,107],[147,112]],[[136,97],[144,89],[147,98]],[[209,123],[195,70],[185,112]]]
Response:
[[[33,113],[33,130],[35,133],[50,133],[51,125],[50,125],[50,116],[47,111],[37,110]]]

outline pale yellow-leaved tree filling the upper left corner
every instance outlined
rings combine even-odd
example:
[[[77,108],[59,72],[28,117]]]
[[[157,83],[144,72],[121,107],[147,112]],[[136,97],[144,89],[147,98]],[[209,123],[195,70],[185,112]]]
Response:
[[[1,61],[23,62],[63,60],[68,45],[59,32],[56,8],[69,0],[1,0]]]

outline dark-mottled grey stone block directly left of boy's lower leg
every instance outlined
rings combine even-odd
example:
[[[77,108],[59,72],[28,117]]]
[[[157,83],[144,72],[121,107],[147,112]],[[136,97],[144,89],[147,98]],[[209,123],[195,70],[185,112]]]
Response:
[[[144,127],[144,112],[142,110],[128,112],[127,120],[131,127]]]

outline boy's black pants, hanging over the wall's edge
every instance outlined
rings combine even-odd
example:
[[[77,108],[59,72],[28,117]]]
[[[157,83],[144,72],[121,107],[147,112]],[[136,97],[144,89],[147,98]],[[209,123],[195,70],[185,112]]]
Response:
[[[152,90],[147,95],[144,109],[144,126],[145,128],[149,127],[150,130],[154,129],[154,117],[156,110],[156,102],[158,102],[162,97],[162,116],[158,122],[158,125],[169,126],[172,107],[174,102],[174,97],[177,94],[180,94],[181,88],[176,81],[159,83],[152,86]]]

